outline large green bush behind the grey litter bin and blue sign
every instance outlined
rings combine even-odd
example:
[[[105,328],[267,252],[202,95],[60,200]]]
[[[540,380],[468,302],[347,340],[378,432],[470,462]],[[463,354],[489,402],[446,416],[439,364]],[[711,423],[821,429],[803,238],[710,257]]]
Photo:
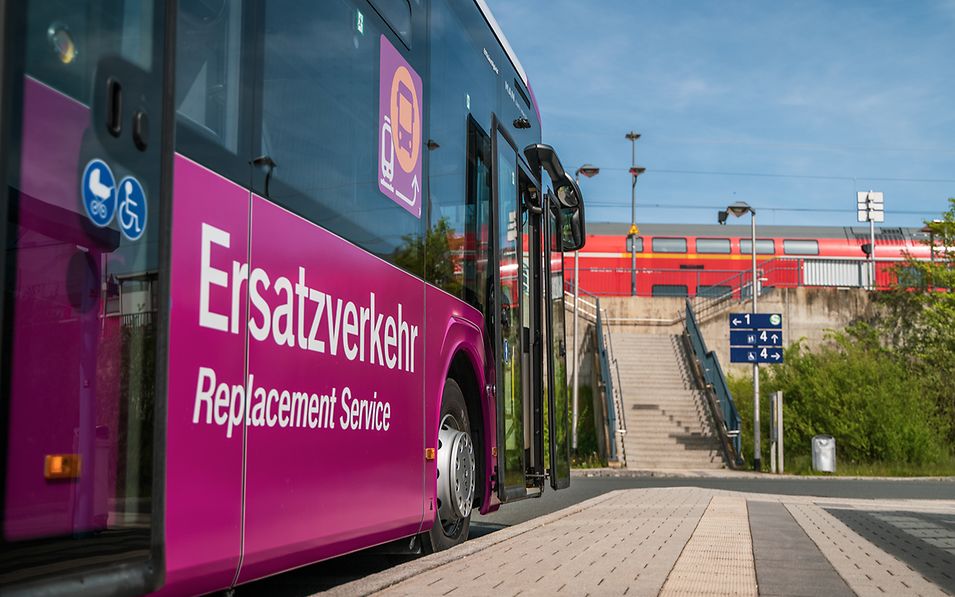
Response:
[[[743,418],[743,453],[751,462],[752,380],[734,377],[730,384]],[[924,386],[917,372],[863,326],[834,334],[816,351],[790,346],[783,364],[760,369],[763,468],[769,466],[769,395],[776,390],[783,391],[787,462],[811,462],[811,440],[819,434],[836,439],[837,461],[850,468],[950,462],[947,418]]]

